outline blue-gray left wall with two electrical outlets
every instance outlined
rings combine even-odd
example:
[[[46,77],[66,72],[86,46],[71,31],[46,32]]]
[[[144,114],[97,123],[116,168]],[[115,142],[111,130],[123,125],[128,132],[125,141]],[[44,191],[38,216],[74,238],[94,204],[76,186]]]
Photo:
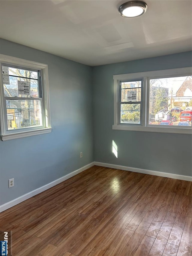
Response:
[[[48,65],[52,132],[0,140],[0,205],[93,158],[92,67],[0,40],[0,53]],[[83,158],[79,158],[79,152]],[[14,187],[8,188],[8,179]]]

